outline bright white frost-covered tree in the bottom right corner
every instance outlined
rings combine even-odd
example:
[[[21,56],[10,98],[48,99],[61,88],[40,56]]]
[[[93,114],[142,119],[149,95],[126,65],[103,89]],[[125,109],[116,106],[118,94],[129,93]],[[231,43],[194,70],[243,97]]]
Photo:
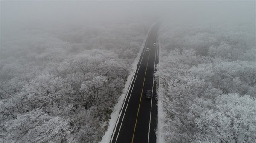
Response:
[[[235,93],[220,95],[214,103],[198,98],[190,107],[189,117],[195,120],[198,133],[208,134],[209,139],[214,137],[221,143],[253,143],[256,140],[254,104],[255,98]]]

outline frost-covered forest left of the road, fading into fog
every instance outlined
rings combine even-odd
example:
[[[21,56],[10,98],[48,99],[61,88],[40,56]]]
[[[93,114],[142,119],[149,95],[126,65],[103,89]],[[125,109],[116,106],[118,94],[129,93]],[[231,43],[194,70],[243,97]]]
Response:
[[[99,142],[153,21],[2,33],[0,142]]]

